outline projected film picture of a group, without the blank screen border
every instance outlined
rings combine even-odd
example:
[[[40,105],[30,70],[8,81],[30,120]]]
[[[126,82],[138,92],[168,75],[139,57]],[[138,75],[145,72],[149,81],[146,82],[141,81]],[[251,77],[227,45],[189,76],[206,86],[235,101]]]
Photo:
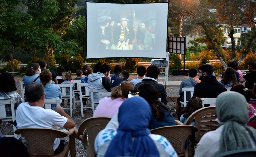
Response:
[[[99,49],[112,50],[152,50],[155,45],[155,13],[98,11],[98,44]],[[115,14],[121,12],[119,14]],[[123,16],[120,16],[124,14]],[[133,17],[134,15],[134,17]],[[136,16],[137,15],[137,16]]]

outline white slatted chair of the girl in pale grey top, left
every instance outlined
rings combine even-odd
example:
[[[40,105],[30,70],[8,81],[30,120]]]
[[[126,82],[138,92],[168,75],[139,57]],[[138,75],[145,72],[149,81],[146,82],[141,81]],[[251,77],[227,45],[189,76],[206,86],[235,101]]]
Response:
[[[61,92],[62,92],[62,99],[70,99],[70,108],[63,108],[63,109],[70,109],[70,117],[73,117],[73,113],[75,113],[75,93],[73,88],[73,84],[56,84],[57,86],[59,86],[61,88]],[[66,88],[70,89],[70,95],[66,95]]]

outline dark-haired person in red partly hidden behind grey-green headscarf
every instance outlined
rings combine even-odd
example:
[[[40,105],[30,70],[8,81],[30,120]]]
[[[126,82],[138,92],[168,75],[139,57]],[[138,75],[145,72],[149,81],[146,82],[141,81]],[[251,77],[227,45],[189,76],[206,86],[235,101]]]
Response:
[[[250,104],[248,107],[254,107],[256,108],[256,89],[254,89],[254,92],[251,89],[245,88],[243,85],[235,85],[230,89],[230,91],[238,92],[242,95],[244,95],[246,101],[248,104]],[[249,112],[249,118],[253,116],[254,114]],[[250,125],[251,127],[256,129],[256,122],[248,122],[247,125]]]

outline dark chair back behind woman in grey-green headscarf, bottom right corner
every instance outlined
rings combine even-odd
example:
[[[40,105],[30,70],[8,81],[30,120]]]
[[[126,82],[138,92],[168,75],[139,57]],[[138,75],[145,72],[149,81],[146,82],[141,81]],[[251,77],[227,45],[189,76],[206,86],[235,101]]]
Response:
[[[214,157],[255,157],[256,156],[256,149],[240,149],[235,151],[227,151],[224,153],[220,153],[215,155]]]

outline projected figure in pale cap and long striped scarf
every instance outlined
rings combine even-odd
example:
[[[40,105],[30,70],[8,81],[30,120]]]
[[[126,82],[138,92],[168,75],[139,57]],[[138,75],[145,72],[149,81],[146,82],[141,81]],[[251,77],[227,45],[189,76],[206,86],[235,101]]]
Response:
[[[120,26],[119,41],[118,41],[116,47],[120,50],[128,50],[129,49],[129,41],[126,41],[126,40],[129,35],[129,27],[127,25],[129,20],[127,18],[122,18],[121,20],[122,20],[122,25]]]

